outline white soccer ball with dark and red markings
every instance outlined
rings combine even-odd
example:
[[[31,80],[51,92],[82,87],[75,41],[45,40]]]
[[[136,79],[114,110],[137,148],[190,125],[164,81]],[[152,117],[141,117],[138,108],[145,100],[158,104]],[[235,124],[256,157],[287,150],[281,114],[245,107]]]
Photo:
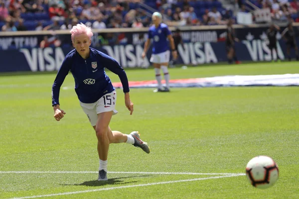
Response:
[[[246,176],[252,186],[266,189],[273,186],[278,180],[278,166],[268,156],[257,156],[248,162]]]

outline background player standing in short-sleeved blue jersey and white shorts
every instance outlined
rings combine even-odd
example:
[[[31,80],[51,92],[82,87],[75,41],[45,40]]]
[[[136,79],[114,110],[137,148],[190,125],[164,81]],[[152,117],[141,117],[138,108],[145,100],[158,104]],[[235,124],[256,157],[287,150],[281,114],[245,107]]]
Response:
[[[152,53],[150,62],[153,63],[155,77],[158,83],[158,89],[154,92],[169,92],[169,73],[168,62],[170,59],[170,52],[167,39],[170,42],[171,52],[173,59],[177,58],[177,52],[175,50],[174,41],[168,26],[162,23],[162,15],[159,12],[154,12],[151,17],[153,25],[149,27],[149,38],[145,43],[145,48],[142,53],[142,58],[145,58],[150,45],[150,40],[153,39]],[[160,69],[164,74],[166,87],[162,87],[162,78],[160,75]]]

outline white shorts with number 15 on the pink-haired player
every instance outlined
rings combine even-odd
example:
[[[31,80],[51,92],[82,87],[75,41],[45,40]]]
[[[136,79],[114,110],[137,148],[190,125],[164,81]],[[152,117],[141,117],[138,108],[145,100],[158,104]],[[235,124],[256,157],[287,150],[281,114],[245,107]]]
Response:
[[[80,105],[87,115],[92,126],[97,124],[98,114],[101,112],[113,111],[113,115],[118,111],[115,109],[116,105],[116,91],[110,94],[106,94],[94,103],[83,103],[80,101]]]

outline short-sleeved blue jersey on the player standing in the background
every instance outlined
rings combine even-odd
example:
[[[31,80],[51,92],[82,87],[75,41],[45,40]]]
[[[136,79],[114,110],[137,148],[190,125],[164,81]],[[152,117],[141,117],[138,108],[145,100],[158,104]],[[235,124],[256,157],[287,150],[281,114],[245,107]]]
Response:
[[[157,28],[155,25],[149,27],[149,39],[153,38],[152,54],[159,54],[169,50],[167,36],[170,34],[168,26],[164,23],[160,23]]]

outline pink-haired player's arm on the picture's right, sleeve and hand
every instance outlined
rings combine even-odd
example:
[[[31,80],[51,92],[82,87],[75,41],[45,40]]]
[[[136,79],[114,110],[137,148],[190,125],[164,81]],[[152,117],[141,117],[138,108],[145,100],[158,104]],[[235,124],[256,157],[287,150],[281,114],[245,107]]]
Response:
[[[134,103],[130,100],[129,81],[125,70],[112,57],[104,57],[103,63],[106,68],[108,68],[111,72],[119,76],[121,83],[123,85],[123,92],[125,94],[125,104],[128,110],[130,110],[130,114],[132,115],[134,111]]]

